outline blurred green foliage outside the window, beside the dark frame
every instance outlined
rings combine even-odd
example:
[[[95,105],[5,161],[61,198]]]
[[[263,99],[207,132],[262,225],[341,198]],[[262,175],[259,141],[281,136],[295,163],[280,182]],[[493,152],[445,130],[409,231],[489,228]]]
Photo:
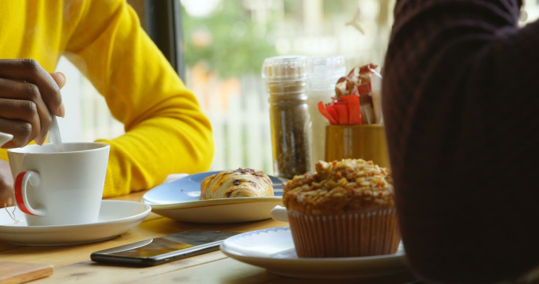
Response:
[[[222,1],[215,13],[204,18],[192,17],[183,8],[182,17],[188,67],[202,61],[228,78],[260,73],[264,59],[277,55],[267,32],[272,31],[272,23],[255,25],[241,1]]]

